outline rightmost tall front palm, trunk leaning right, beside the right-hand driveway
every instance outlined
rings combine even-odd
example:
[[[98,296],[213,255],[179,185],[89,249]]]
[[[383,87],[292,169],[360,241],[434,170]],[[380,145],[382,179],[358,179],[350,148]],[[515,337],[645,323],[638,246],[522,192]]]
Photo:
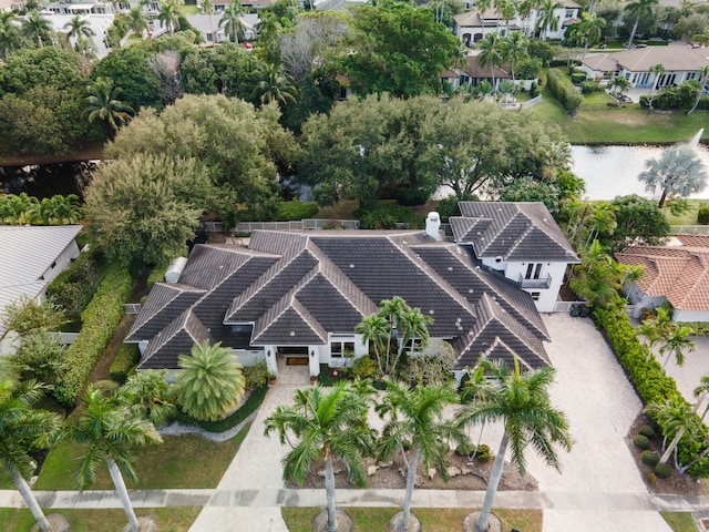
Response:
[[[562,470],[554,444],[571,450],[573,440],[568,433],[566,416],[552,406],[548,387],[554,380],[554,369],[546,366],[535,371],[520,372],[520,362],[514,359],[514,370],[504,362],[491,362],[482,358],[480,365],[492,377],[493,389],[483,397],[463,406],[458,415],[461,427],[490,421],[503,421],[505,431],[492,466],[487,491],[480,516],[475,521],[479,531],[489,526],[492,503],[502,478],[507,446],[512,451],[511,462],[524,474],[526,460],[524,450],[532,446],[544,461],[556,471]]]

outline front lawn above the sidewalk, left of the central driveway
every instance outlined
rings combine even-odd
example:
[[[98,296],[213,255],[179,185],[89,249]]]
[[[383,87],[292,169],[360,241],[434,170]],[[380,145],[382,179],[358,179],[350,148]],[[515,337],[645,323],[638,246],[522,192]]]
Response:
[[[135,464],[138,482],[131,488],[216,488],[249,427],[250,424],[244,427],[238,434],[223,443],[215,443],[197,434],[166,436],[164,443],[160,446],[138,449]],[[65,442],[53,449],[42,466],[34,489],[75,490],[75,475],[82,452],[82,447],[73,442]],[[105,468],[99,469],[91,489],[113,489]]]

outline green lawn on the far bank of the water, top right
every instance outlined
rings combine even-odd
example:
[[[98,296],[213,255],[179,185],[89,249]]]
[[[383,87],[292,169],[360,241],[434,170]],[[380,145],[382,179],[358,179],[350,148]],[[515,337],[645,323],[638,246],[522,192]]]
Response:
[[[639,105],[607,108],[593,104],[575,119],[566,115],[554,96],[545,89],[542,102],[527,110],[535,120],[558,125],[572,144],[634,144],[674,143],[691,139],[709,123],[709,111],[682,111],[647,114]],[[709,140],[709,127],[702,136]]]

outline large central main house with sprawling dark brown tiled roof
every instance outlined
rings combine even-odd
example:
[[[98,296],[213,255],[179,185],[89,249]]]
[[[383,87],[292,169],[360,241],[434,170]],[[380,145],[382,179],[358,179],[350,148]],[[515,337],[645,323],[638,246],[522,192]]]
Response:
[[[543,264],[544,269],[532,268],[530,282],[540,286],[533,291],[551,290],[557,263],[577,258],[559,242],[546,208],[520,205],[505,211],[507,225],[538,222],[544,228],[512,233],[497,227],[497,219],[492,225],[502,241],[530,238],[517,247],[536,250],[530,256]],[[546,223],[534,216],[542,212]],[[507,361],[514,354],[527,368],[548,365],[548,334],[528,286],[520,289],[518,279],[489,270],[490,260],[476,259],[469,246],[441,241],[438,215],[429,217],[425,232],[256,231],[248,247],[197,245],[176,283],[155,285],[125,341],[138,344],[138,369],[175,370],[181,354],[208,340],[230,347],[242,364],[266,360],[277,372],[277,359],[300,357],[318,375],[320,365],[343,366],[369,352],[356,326],[381,300],[401,296],[434,319],[432,339],[453,346],[459,378],[482,354]],[[542,250],[554,255],[542,258]]]

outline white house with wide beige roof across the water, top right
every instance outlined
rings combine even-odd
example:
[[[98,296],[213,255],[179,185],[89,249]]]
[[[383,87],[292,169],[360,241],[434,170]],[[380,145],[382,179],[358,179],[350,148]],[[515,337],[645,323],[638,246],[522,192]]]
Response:
[[[656,64],[665,66],[665,73],[650,72]],[[637,89],[661,89],[685,81],[701,79],[701,69],[709,65],[709,48],[684,45],[647,47],[615,53],[587,55],[580,68],[588,78],[608,82],[621,75]]]

